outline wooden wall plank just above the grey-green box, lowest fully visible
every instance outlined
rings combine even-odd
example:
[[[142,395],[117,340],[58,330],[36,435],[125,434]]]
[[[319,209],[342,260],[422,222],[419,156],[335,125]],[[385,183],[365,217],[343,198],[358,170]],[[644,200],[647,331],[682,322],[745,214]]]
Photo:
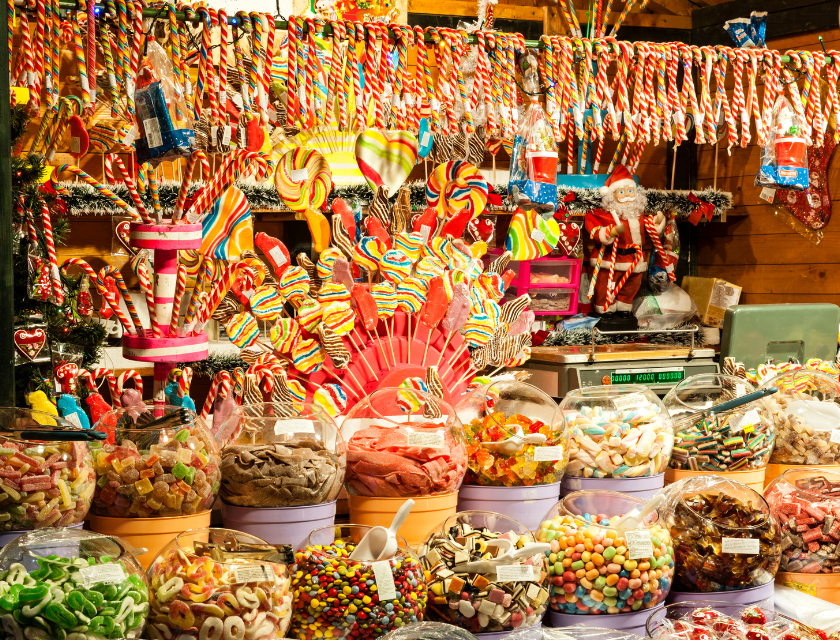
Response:
[[[700,265],[697,274],[723,278],[750,293],[840,293],[840,269],[834,264]]]

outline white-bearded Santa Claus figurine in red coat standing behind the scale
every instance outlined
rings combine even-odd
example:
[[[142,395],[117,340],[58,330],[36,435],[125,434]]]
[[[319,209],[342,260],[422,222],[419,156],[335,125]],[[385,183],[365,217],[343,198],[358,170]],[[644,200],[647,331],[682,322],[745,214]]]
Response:
[[[592,281],[589,298],[604,330],[630,331],[638,327],[633,298],[647,272],[645,242],[661,246],[665,216],[645,215],[647,196],[624,165],[601,187],[601,208],[586,215],[586,230],[595,241],[589,253]]]

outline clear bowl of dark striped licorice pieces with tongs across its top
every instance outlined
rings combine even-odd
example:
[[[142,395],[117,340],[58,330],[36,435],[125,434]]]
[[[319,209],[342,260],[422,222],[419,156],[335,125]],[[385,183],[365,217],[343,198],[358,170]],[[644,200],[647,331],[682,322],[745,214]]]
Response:
[[[703,373],[672,388],[663,404],[674,421],[674,449],[665,483],[714,473],[737,480],[758,492],[773,450],[776,427],[759,411],[759,402],[708,413],[755,392],[743,378]]]

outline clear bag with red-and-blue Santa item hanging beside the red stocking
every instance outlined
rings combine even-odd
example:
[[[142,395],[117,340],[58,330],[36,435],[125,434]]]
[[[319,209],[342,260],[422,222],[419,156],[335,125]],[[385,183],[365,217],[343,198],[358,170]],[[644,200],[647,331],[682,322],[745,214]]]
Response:
[[[808,188],[808,141],[803,130],[804,124],[787,98],[776,100],[755,186],[791,191]]]

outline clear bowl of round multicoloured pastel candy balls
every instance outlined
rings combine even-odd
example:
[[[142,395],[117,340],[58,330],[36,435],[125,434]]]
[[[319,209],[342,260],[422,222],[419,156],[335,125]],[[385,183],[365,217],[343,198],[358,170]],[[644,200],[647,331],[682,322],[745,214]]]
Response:
[[[650,610],[664,604],[674,577],[668,529],[656,510],[643,522],[619,523],[644,504],[612,491],[577,491],[545,515],[537,540],[551,545],[552,626],[583,622],[638,632]]]

